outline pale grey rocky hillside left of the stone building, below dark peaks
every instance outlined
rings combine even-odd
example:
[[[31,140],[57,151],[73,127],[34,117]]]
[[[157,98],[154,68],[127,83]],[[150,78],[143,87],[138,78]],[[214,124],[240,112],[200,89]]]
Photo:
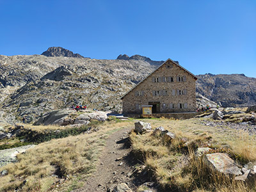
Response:
[[[34,121],[72,104],[120,112],[121,95],[154,70],[140,60],[62,56],[1,56],[0,63],[0,122],[12,123],[24,115]]]

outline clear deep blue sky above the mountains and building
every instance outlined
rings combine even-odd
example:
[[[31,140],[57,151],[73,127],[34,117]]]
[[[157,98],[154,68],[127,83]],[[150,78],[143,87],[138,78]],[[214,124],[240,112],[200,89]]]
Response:
[[[256,77],[256,0],[0,0],[0,54],[60,46],[96,59],[171,58]]]

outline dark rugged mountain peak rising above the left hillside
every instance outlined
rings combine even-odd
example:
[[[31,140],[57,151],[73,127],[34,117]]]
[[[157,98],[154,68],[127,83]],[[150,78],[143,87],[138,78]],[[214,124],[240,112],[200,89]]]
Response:
[[[69,51],[63,47],[49,47],[47,51],[43,52],[42,55],[47,57],[69,57],[69,58],[84,58],[81,54]]]

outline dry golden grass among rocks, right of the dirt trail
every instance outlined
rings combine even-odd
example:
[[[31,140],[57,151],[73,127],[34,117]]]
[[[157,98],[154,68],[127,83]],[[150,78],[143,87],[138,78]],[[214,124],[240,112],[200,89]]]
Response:
[[[134,152],[143,154],[144,163],[151,170],[162,190],[179,191],[232,191],[252,192],[255,184],[248,186],[234,179],[218,174],[205,167],[200,159],[195,158],[197,147],[211,147],[221,150],[229,146],[228,152],[237,163],[256,162],[256,139],[247,132],[228,129],[227,127],[209,127],[202,124],[200,118],[190,120],[147,119],[152,128],[159,126],[177,135],[172,145],[167,145],[152,132],[145,134],[131,133]],[[188,145],[184,145],[186,140]],[[220,148],[220,149],[218,149]]]

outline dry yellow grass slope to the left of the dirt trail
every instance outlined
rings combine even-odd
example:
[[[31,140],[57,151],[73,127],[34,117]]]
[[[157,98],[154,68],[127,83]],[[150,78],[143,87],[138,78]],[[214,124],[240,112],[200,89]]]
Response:
[[[0,177],[0,191],[19,188],[21,191],[47,191],[61,177],[67,180],[58,191],[70,191],[81,186],[95,170],[108,135],[130,123],[105,122],[100,125],[100,131],[92,134],[40,143],[27,150],[26,154],[19,154],[17,163],[0,168],[0,172],[8,170],[8,175]]]

